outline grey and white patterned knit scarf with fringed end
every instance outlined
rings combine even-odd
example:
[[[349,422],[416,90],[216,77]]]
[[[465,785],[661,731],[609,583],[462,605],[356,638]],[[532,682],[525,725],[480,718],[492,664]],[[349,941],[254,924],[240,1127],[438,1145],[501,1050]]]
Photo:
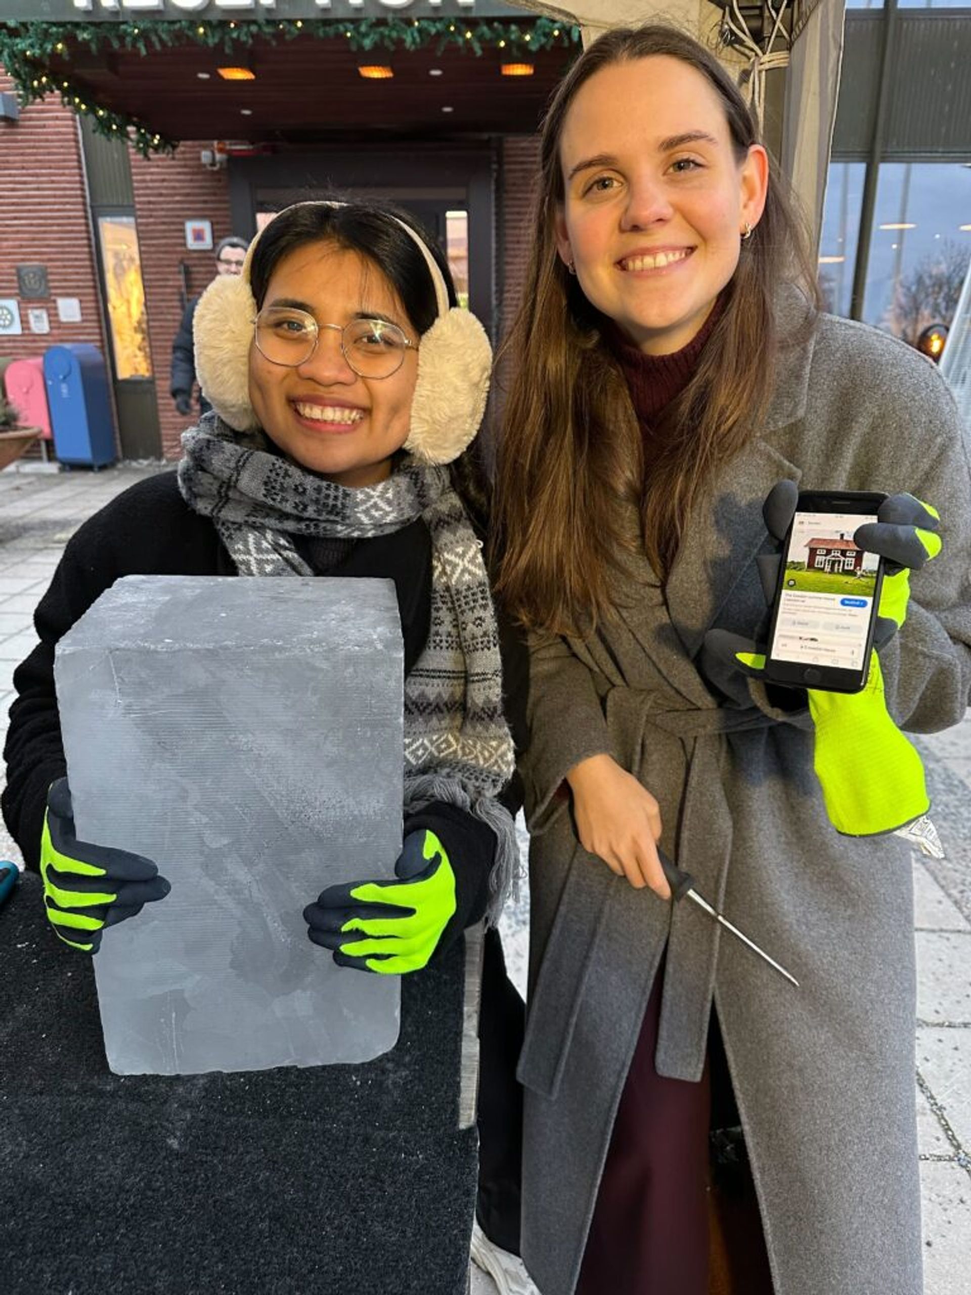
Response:
[[[262,431],[216,414],[183,435],[179,487],[211,517],[240,575],[312,575],[291,535],[366,539],[421,517],[431,535],[431,625],[404,689],[404,802],[444,800],[496,834],[488,918],[515,873],[515,831],[495,799],[513,773],[498,631],[482,559],[448,470],[410,456],[377,486],[347,490],[272,452]]]

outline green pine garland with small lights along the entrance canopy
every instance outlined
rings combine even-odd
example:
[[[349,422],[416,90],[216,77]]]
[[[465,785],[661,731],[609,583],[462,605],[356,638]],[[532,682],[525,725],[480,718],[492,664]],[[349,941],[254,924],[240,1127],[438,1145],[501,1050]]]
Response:
[[[83,45],[93,54],[118,49],[148,54],[149,51],[175,45],[205,45],[232,54],[249,49],[258,40],[293,40],[313,36],[318,40],[343,39],[355,52],[374,49],[423,49],[435,47],[441,53],[457,47],[476,56],[487,49],[509,49],[510,54],[530,53],[554,47],[579,45],[580,28],[553,18],[531,22],[502,22],[475,18],[254,18],[240,22],[12,22],[0,23],[0,63],[17,88],[21,105],[60,93],[61,102],[75,113],[92,119],[97,133],[107,139],[127,139],[142,157],[150,153],[172,153],[176,142],[157,135],[142,122],[124,113],[115,113],[88,102],[91,93],[76,84],[70,73],[52,69],[52,62],[67,54],[69,43]]]

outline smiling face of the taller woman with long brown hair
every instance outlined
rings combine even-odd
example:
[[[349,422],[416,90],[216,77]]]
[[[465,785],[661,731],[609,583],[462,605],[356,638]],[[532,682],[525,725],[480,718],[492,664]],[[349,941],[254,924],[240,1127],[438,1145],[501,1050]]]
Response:
[[[576,92],[559,149],[557,247],[584,295],[642,351],[704,324],[765,205],[768,158],[739,162],[715,87],[667,54],[611,63]]]

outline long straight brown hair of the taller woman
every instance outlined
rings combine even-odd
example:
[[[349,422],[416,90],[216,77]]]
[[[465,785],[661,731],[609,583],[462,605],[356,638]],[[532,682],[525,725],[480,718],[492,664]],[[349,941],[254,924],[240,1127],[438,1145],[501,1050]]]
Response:
[[[773,294],[790,280],[816,302],[804,232],[770,172],[765,210],[722,290],[724,308],[685,391],[664,413],[664,449],[645,470],[620,368],[601,341],[603,317],[557,253],[564,201],[559,148],[580,87],[603,67],[667,54],[704,75],[722,101],[735,157],[759,142],[744,100],[717,60],[660,23],[601,36],[561,83],[542,123],[540,192],[519,313],[505,344],[514,373],[498,443],[493,557],[505,605],[554,633],[610,616],[610,576],[643,545],[664,579],[691,506],[716,469],[756,431],[773,383]],[[629,505],[641,535],[621,532]]]

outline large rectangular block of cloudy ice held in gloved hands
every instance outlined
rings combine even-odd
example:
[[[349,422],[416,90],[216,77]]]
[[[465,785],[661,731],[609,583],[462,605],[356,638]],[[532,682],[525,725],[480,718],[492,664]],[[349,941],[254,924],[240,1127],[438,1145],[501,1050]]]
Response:
[[[390,877],[401,846],[403,648],[391,580],[127,576],[54,663],[80,840],[171,894],[95,958],[115,1074],[363,1062],[399,980],[334,965],[303,908]]]

